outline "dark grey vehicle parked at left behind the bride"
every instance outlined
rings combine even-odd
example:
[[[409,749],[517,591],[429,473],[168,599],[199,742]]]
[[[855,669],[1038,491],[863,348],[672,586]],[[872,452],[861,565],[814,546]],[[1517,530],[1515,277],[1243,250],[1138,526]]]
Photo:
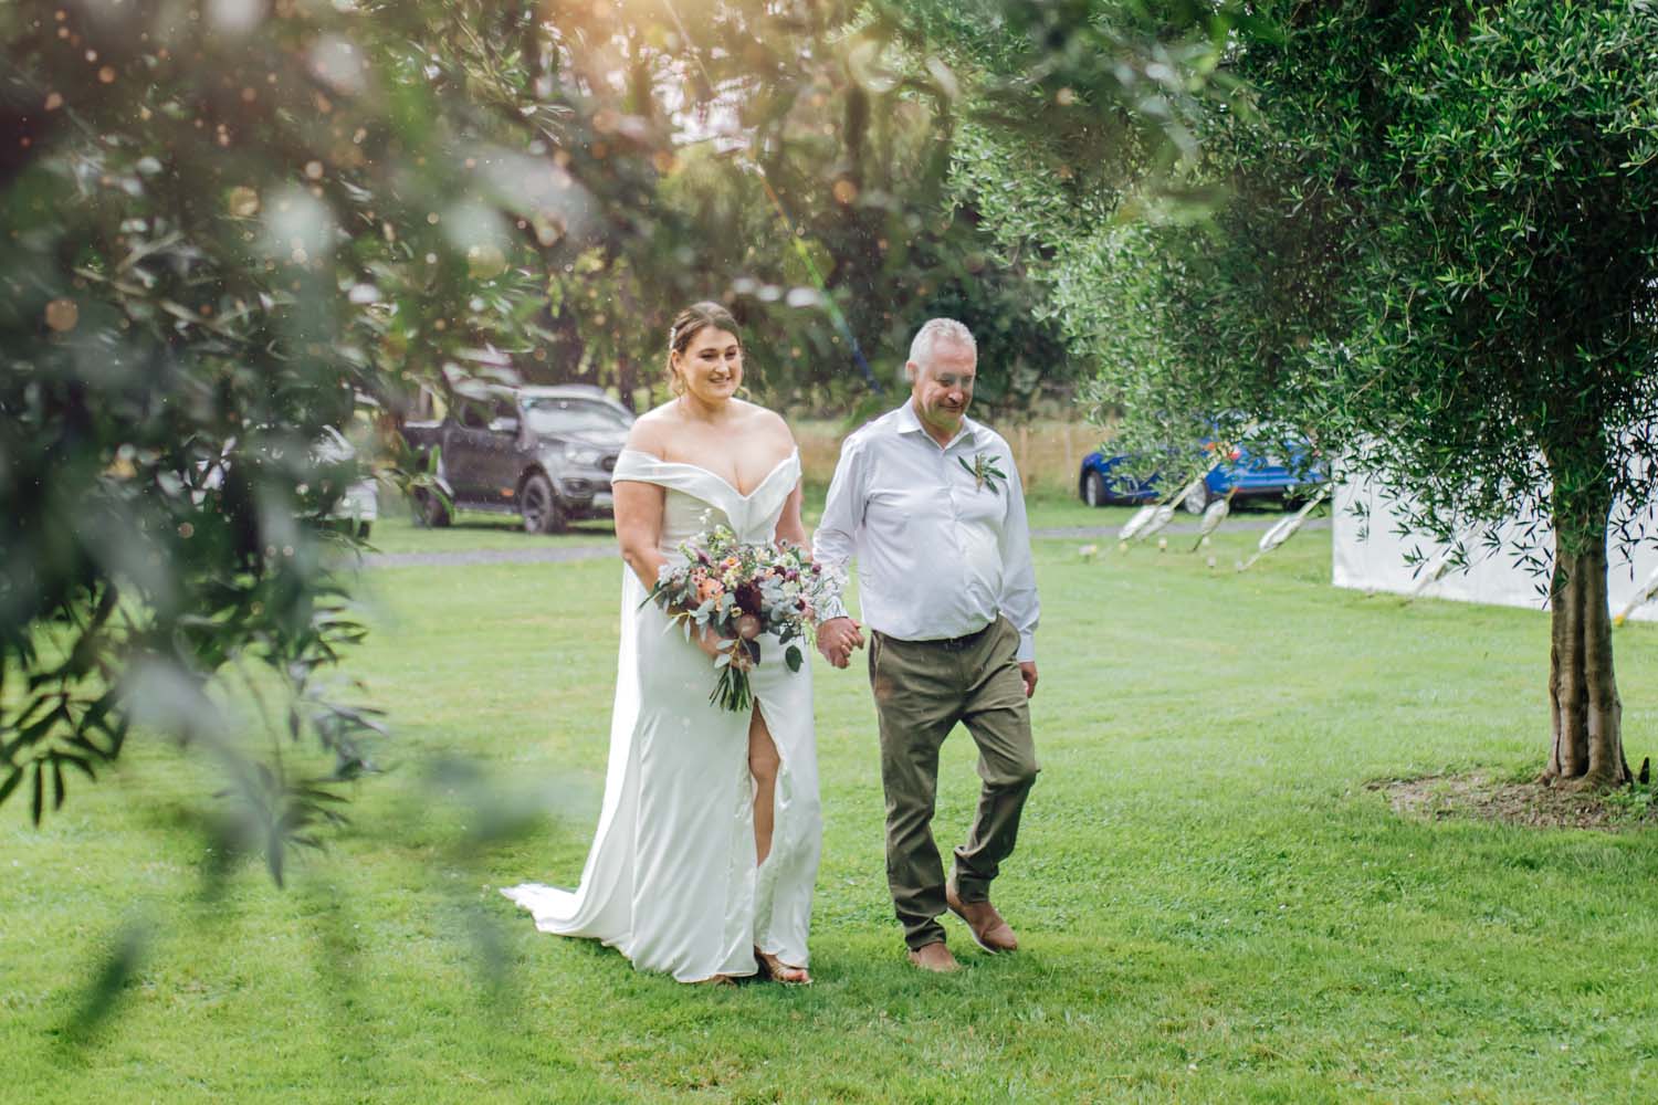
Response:
[[[441,422],[403,427],[441,490],[416,490],[419,520],[448,525],[451,509],[491,510],[522,517],[531,533],[555,533],[610,517],[610,472],[632,424],[625,406],[584,384],[458,398]]]

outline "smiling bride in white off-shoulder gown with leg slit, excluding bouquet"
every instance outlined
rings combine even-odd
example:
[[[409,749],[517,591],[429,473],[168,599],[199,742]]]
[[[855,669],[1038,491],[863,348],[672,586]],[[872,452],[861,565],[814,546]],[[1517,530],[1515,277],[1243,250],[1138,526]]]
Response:
[[[715,522],[744,542],[804,545],[799,451],[778,414],[733,398],[743,343],[718,303],[673,320],[668,373],[675,398],[633,424],[612,475],[622,648],[582,885],[501,893],[544,933],[600,939],[681,982],[811,982],[822,835],[811,668],[791,673],[776,638],[761,638],[753,714],[711,706],[715,639],[686,641],[645,603],[675,547]]]

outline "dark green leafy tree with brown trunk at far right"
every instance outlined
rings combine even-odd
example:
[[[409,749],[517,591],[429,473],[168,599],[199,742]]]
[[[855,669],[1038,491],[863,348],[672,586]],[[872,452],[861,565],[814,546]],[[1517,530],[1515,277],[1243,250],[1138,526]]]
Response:
[[[1376,68],[1388,176],[1360,184],[1376,239],[1355,355],[1325,350],[1333,421],[1442,530],[1549,519],[1545,777],[1628,782],[1607,543],[1643,537],[1658,462],[1658,10],[1527,0],[1413,30]]]

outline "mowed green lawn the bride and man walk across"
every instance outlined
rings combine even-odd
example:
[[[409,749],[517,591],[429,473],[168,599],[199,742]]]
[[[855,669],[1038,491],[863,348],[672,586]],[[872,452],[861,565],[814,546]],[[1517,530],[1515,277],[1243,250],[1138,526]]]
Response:
[[[947,918],[952,977],[910,969],[890,918],[864,673],[816,668],[811,989],[638,974],[496,893],[580,875],[620,562],[371,572],[351,671],[393,712],[388,770],[287,890],[250,863],[214,890],[186,815],[214,779],[154,742],[40,830],[0,812],[0,1098],[1651,1100],[1658,833],[1413,822],[1366,790],[1534,772],[1547,620],[1336,591],[1326,533],[1229,570],[1255,537],[1222,535],[1217,570],[1038,543],[1043,775],[995,888],[1025,949]],[[1658,633],[1617,646],[1638,762]],[[948,847],[965,732],[940,774]],[[76,1027],[133,931],[134,976]]]

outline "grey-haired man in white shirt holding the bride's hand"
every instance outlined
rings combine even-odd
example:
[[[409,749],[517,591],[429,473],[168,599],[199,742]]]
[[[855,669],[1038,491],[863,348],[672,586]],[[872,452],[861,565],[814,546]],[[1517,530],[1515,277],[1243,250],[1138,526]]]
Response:
[[[910,961],[958,964],[938,918],[948,908],[985,951],[1018,939],[990,905],[1036,779],[1028,699],[1036,692],[1036,573],[1013,451],[967,417],[978,351],[950,318],[924,325],[904,371],[910,398],[846,439],[814,557],[846,578],[857,557],[869,681],[880,719],[887,883]],[[817,649],[836,668],[864,644],[839,598]],[[957,722],[983,780],[967,843],[945,880],[932,837],[938,747]]]

